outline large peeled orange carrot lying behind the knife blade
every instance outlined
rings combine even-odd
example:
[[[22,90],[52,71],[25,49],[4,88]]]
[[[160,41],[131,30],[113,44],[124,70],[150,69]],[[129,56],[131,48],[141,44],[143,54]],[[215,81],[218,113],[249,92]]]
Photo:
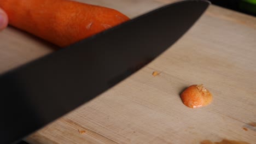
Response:
[[[129,20],[117,10],[69,0],[1,0],[0,8],[9,25],[60,47]]]

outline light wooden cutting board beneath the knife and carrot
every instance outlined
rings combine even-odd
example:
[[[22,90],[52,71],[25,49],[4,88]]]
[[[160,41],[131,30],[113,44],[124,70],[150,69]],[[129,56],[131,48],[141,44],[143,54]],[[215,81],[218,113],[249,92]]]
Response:
[[[80,2],[114,8],[132,18],[173,1]],[[0,73],[54,49],[8,27],[0,33]],[[153,76],[153,71],[160,75]],[[200,109],[184,106],[179,94],[201,83],[212,92],[212,104]],[[256,143],[255,126],[256,18],[211,5],[187,34],[147,67],[26,141],[211,143],[227,139]]]

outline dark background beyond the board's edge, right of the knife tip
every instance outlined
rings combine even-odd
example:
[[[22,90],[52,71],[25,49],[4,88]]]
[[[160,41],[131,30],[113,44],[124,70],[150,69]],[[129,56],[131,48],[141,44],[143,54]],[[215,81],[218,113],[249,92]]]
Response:
[[[256,4],[243,0],[209,0],[214,5],[256,16]]]

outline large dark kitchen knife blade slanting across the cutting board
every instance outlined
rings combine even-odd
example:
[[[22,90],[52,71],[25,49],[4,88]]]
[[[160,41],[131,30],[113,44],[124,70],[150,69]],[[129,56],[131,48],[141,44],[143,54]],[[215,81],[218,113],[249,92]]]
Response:
[[[126,79],[182,37],[209,4],[166,5],[2,74],[1,141],[18,142]]]

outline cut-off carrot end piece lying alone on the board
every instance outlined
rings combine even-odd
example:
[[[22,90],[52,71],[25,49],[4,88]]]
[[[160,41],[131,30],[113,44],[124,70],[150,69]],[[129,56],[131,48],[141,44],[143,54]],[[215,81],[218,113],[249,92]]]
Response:
[[[202,107],[212,102],[212,94],[203,85],[191,85],[181,93],[185,106],[191,108]]]

